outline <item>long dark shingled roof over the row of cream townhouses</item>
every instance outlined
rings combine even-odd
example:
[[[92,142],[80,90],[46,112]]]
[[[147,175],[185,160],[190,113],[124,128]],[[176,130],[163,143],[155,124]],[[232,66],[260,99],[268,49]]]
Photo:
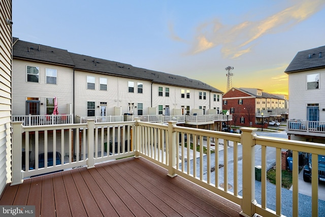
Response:
[[[40,51],[38,51],[39,45],[37,44],[20,41],[18,38],[13,38],[13,41],[13,56],[17,58],[63,64],[73,66],[75,69],[82,71],[105,73],[109,75],[149,80],[154,83],[209,90],[221,94],[223,93],[221,90],[202,81],[190,79],[184,76],[137,68],[129,64],[70,53],[67,50],[52,48],[44,45],[40,45]],[[31,47],[33,49],[30,49]]]

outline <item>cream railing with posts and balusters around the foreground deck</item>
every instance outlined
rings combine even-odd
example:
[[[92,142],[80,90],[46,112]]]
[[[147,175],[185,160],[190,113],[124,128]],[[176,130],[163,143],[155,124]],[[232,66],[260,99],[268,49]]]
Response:
[[[200,130],[176,126],[177,121],[168,125],[135,121],[115,123],[87,123],[61,126],[22,126],[13,122],[12,185],[23,182],[24,177],[64,170],[127,156],[143,157],[168,169],[168,175],[182,176],[242,207],[242,214],[252,216],[280,216],[281,209],[281,164],[282,149],[293,151],[293,193],[292,214],[298,216],[298,173],[299,152],[309,152],[312,157],[312,216],[318,214],[318,154],[325,155],[325,145],[287,139],[256,136],[254,128],[241,128],[242,134]],[[30,139],[35,146],[30,146]],[[73,139],[75,141],[73,141]],[[214,141],[214,142],[212,142]],[[217,144],[233,144],[233,153],[227,146],[219,156]],[[190,145],[189,145],[190,143]],[[74,145],[75,144],[75,145]],[[216,145],[215,145],[216,144]],[[215,152],[211,147],[215,145]],[[192,147],[191,147],[192,146]],[[258,146],[255,148],[255,146]],[[22,163],[22,148],[24,162]],[[276,205],[267,203],[267,149],[276,150]],[[255,149],[261,150],[261,202],[255,198]],[[74,150],[74,151],[72,151]],[[206,150],[206,153],[204,152]],[[242,150],[242,151],[239,151]],[[35,156],[49,151],[61,152],[60,161],[52,165],[43,164]],[[73,154],[75,153],[75,156]],[[34,157],[33,157],[34,156]],[[48,161],[47,154],[44,162]],[[190,159],[189,156],[199,156]],[[30,163],[34,159],[34,164]],[[36,159],[36,160],[35,160]],[[25,165],[23,169],[22,164]],[[31,164],[33,166],[31,166]],[[220,165],[222,165],[220,167]],[[231,183],[233,188],[229,188]]]

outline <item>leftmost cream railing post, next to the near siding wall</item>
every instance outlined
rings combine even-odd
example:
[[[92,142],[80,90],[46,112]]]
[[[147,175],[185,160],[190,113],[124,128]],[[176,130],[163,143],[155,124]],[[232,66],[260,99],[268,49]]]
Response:
[[[23,172],[21,168],[21,153],[22,153],[22,121],[12,122],[12,179],[11,185],[21,184],[23,182]],[[27,165],[26,165],[27,166]]]

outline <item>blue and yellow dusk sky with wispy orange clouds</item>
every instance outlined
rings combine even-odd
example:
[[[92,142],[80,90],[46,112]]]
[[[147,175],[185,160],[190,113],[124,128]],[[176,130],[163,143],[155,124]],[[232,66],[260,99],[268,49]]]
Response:
[[[297,52],[325,45],[324,0],[13,1],[13,37],[233,87],[287,94]]]

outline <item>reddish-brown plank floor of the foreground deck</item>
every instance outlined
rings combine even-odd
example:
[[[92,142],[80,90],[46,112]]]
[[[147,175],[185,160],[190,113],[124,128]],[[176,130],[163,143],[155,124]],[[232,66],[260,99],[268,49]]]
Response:
[[[0,205],[35,205],[35,216],[240,216],[241,208],[143,158],[25,179]]]

